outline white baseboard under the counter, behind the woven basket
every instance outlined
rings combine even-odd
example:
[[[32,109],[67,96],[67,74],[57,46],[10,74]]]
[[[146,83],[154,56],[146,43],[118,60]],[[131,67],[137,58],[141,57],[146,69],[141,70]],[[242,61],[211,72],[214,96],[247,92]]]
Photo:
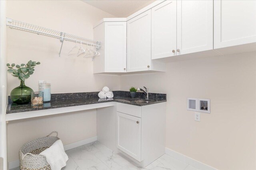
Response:
[[[97,141],[97,136],[94,136],[94,137],[90,137],[90,138],[87,138],[87,139],[84,139],[82,141],[77,141],[77,142],[74,142],[74,143],[70,143],[68,145],[64,145],[64,150],[69,150],[69,149],[73,149],[73,148],[76,148],[76,147],[80,147],[82,145],[85,145],[85,144],[88,144],[88,143],[91,143],[91,142],[94,142],[94,141]],[[20,160],[14,160],[12,162],[9,162],[9,170],[12,169],[12,168],[16,168],[20,166]]]

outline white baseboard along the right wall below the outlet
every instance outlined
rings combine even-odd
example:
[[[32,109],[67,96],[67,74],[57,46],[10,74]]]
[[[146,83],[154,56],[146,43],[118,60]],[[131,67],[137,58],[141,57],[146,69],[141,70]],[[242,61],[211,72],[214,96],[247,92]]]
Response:
[[[169,148],[165,148],[165,153],[182,161],[182,162],[186,162],[187,164],[190,164],[191,166],[194,166],[195,168],[200,169],[200,170],[217,170],[216,168],[213,168],[213,167],[206,165],[202,162],[194,160],[193,158],[190,158],[188,156],[180,154],[180,153],[178,153],[174,150],[171,150]]]

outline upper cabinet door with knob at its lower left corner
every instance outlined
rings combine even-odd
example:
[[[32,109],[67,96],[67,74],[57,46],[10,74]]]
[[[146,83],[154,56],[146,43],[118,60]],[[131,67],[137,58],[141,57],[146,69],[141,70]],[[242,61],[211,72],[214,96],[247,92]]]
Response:
[[[213,49],[213,0],[177,1],[177,55]]]

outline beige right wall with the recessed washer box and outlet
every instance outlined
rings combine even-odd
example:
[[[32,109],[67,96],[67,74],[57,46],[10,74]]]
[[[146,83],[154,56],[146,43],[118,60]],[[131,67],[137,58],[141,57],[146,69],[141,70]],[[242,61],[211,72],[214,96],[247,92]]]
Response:
[[[222,170],[256,169],[256,53],[168,63],[120,82],[167,94],[167,148]],[[187,98],[209,98],[211,113],[194,121]]]

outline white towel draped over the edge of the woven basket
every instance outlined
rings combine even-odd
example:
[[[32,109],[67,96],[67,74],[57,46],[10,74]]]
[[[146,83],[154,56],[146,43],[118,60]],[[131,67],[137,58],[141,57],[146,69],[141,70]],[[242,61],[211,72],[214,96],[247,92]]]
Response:
[[[46,157],[46,160],[52,170],[61,170],[61,168],[66,166],[68,155],[65,153],[62,141],[60,139],[54,142],[52,146],[42,151],[40,154]]]

